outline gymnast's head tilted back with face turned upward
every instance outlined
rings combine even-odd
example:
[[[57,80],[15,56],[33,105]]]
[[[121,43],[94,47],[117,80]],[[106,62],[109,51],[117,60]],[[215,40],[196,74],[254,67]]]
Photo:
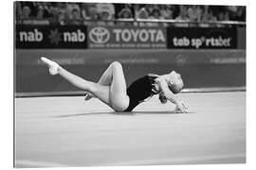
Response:
[[[180,74],[176,73],[175,71],[172,71],[169,75],[169,81],[168,81],[168,87],[173,93],[179,93],[183,86],[183,80],[180,76]]]

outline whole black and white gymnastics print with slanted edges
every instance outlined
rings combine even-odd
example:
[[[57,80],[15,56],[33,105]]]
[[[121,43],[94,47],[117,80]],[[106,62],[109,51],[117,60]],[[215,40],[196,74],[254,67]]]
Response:
[[[247,6],[13,10],[15,168],[247,163]]]

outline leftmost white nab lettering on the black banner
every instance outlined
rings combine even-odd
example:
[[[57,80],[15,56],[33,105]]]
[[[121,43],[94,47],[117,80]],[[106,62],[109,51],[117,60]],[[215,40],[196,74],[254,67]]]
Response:
[[[19,32],[20,42],[42,42],[44,39],[43,33],[37,28],[33,31],[21,31]]]

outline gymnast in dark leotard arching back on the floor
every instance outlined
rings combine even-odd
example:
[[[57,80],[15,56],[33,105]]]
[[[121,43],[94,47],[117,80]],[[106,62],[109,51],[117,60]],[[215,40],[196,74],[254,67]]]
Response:
[[[95,83],[73,75],[55,61],[44,57],[41,59],[48,66],[50,75],[59,74],[74,86],[86,91],[85,100],[97,97],[115,111],[132,111],[139,103],[155,94],[159,94],[161,103],[166,103],[167,100],[174,103],[176,111],[188,110],[184,102],[174,95],[179,93],[184,85],[181,76],[174,71],[162,76],[142,76],[126,89],[122,66],[118,61],[112,62],[99,82]]]

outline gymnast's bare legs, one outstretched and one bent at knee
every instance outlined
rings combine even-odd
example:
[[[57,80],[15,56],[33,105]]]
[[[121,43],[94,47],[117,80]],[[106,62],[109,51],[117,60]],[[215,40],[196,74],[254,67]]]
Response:
[[[129,97],[126,95],[126,82],[119,62],[113,62],[109,66],[103,76],[101,76],[100,82],[102,84],[100,84],[73,75],[54,61],[46,58],[41,59],[49,67],[49,73],[51,75],[59,74],[63,76],[74,86],[89,93],[93,93],[112,109],[121,111],[125,110],[129,105]]]

